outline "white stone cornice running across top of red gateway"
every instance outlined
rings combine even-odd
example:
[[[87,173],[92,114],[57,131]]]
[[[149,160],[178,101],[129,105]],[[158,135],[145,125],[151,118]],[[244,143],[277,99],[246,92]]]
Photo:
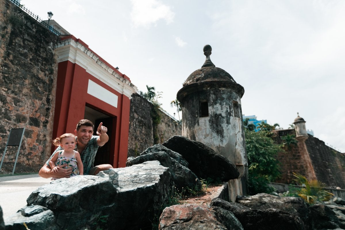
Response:
[[[95,53],[73,39],[67,39],[55,44],[58,62],[70,61],[90,73],[93,77],[107,84],[117,92],[124,94],[129,99],[138,91],[138,88],[127,79],[112,70],[102,62]]]

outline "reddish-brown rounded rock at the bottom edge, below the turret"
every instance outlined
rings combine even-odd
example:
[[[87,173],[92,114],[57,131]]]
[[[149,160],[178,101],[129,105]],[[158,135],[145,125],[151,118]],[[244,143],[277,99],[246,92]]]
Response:
[[[234,214],[219,208],[198,204],[180,204],[167,207],[159,218],[160,230],[243,230]]]

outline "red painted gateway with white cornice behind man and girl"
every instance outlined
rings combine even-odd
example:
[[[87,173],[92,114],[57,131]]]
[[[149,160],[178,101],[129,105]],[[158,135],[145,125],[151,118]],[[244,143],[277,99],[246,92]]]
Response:
[[[98,149],[94,165],[125,167],[130,99],[137,87],[72,35],[61,38],[55,50],[58,77],[53,137],[74,133],[80,119],[91,120],[96,129],[103,122],[109,141]]]

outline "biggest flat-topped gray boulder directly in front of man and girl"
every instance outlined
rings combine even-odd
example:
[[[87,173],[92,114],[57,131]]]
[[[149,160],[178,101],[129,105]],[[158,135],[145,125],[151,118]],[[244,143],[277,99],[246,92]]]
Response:
[[[170,180],[168,168],[158,161],[110,169],[97,176],[62,178],[31,193],[27,202],[35,206],[16,213],[16,218],[26,220],[32,230],[47,229],[33,221],[47,212],[52,221],[49,229],[146,229],[168,201]],[[10,218],[6,228],[16,229]]]

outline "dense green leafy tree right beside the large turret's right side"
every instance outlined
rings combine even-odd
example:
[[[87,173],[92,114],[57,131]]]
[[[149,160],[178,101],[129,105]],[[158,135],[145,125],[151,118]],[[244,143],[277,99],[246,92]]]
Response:
[[[272,133],[265,130],[260,132],[245,130],[250,195],[272,192],[273,189],[268,183],[280,176],[280,163],[276,160],[276,156],[282,149],[270,138],[271,136]]]

